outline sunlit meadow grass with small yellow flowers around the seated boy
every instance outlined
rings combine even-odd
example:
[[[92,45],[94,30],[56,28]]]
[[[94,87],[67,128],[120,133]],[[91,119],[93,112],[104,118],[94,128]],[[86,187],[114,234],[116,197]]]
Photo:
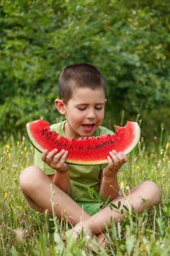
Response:
[[[155,144],[147,147],[141,138],[138,146],[130,153],[128,172],[120,173],[118,177],[119,183],[124,182],[125,190],[128,186],[132,188],[146,180],[157,183],[162,192],[161,204],[139,215],[133,211],[132,215],[124,214],[124,220],[118,223],[118,227],[112,221],[111,229],[105,233],[106,248],[98,245],[101,251],[96,253],[89,249],[83,234],[79,235],[77,241],[70,235],[67,242],[63,243],[62,235],[68,230],[65,223],[55,221],[54,235],[40,229],[18,183],[22,170],[34,163],[34,149],[24,137],[20,142],[15,142],[12,136],[6,142],[1,142],[0,255],[169,255],[170,137],[163,141],[162,133],[163,129],[160,138],[155,138]],[[93,243],[96,243],[95,239]]]

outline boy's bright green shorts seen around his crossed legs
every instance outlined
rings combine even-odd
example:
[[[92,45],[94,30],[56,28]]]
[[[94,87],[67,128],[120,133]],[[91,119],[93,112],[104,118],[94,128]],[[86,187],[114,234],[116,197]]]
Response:
[[[101,204],[95,202],[76,202],[80,207],[82,207],[85,212],[90,216],[101,210]],[[37,215],[35,210],[32,210],[32,215],[34,220],[40,225],[43,230],[48,231],[49,233],[54,233],[54,221],[50,220],[53,218],[51,214],[40,213]]]

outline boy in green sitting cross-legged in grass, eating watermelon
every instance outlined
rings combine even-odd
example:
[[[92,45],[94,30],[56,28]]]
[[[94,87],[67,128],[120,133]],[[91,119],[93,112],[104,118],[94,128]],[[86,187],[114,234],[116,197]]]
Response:
[[[100,126],[104,118],[105,81],[96,67],[90,64],[78,63],[66,67],[59,77],[59,97],[55,100],[57,110],[65,115],[66,121],[54,124],[51,129],[67,138],[99,136],[113,134],[112,131]],[[20,188],[28,205],[38,212],[52,214],[51,191],[53,200],[57,204],[56,215],[73,225],[69,232],[75,232],[84,227],[84,231],[91,230],[94,235],[105,230],[105,223],[111,227],[110,218],[115,224],[122,219],[122,214],[111,211],[109,207],[100,209],[99,203],[93,201],[88,194],[88,187],[93,187],[101,193],[101,198],[109,197],[111,202],[127,205],[125,198],[119,195],[117,183],[118,171],[126,169],[127,157],[121,152],[108,152],[108,164],[101,166],[75,166],[65,163],[68,151],[62,150],[56,154],[57,149],[49,152],[35,152],[35,166],[26,168],[20,175]],[[54,156],[55,155],[55,156]],[[42,171],[43,170],[43,171]],[[112,185],[112,187],[110,186]],[[126,193],[127,195],[128,193]],[[146,181],[131,189],[129,204],[136,212],[144,208],[151,209],[161,200],[159,187]],[[141,198],[146,198],[146,204],[141,204]],[[83,207],[82,207],[83,206]],[[82,209],[82,208],[84,209]],[[120,207],[120,210],[122,209]],[[41,215],[40,215],[41,216]],[[83,222],[82,222],[83,220]],[[80,223],[81,221],[81,223]]]

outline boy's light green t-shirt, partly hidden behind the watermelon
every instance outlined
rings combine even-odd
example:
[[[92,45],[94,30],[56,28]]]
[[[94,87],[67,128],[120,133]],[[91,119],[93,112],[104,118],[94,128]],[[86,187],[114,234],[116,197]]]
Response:
[[[66,138],[64,134],[64,124],[66,121],[51,125],[52,131],[57,131],[59,136]],[[108,130],[105,127],[99,126],[99,128],[92,134],[96,137],[104,134],[114,134],[113,131]],[[38,166],[46,175],[55,174],[55,170],[49,167],[46,163],[41,160],[41,153],[35,150],[34,165]],[[88,188],[94,188],[94,191],[99,193],[99,182],[100,182],[100,170],[103,170],[108,164],[102,164],[97,166],[80,166],[69,164],[70,175],[71,175],[71,198],[74,201],[94,202],[88,194]],[[127,164],[125,163],[119,170],[123,172],[127,170]]]

